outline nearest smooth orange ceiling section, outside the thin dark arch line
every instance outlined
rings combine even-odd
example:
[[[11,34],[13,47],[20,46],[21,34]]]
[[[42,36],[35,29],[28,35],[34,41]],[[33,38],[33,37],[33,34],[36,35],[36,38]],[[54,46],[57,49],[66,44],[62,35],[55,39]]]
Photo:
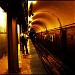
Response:
[[[38,1],[33,6],[33,13],[40,11],[52,12],[62,22],[62,25],[67,25],[75,22],[75,1]],[[69,11],[70,10],[70,11]]]

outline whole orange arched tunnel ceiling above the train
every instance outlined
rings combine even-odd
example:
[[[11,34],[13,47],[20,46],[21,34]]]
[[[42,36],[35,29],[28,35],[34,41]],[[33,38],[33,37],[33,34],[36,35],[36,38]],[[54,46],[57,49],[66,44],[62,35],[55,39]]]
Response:
[[[58,19],[62,26],[72,24],[75,23],[75,1],[37,1],[32,13],[32,24],[38,27],[57,28],[60,26]]]

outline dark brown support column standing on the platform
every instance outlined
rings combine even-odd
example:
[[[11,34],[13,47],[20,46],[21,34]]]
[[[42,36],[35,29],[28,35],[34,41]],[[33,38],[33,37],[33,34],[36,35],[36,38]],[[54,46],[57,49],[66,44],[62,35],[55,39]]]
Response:
[[[7,13],[8,33],[8,71],[9,73],[19,72],[18,64],[18,36],[16,18],[12,17],[10,10]]]

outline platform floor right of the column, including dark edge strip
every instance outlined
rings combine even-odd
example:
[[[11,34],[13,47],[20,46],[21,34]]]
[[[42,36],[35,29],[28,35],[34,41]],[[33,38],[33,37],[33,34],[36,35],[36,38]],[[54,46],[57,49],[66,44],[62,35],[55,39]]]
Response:
[[[47,74],[37,52],[36,49],[31,42],[28,40],[28,55],[23,56],[20,51],[19,54],[19,67],[21,68],[20,74]]]

